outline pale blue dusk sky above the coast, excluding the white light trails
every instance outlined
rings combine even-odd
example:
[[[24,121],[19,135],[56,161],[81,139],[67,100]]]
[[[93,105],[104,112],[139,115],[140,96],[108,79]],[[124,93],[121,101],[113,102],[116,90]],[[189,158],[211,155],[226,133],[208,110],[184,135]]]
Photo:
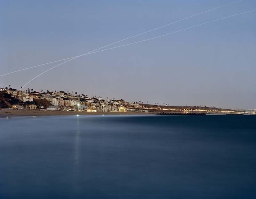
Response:
[[[0,0],[0,75],[87,53],[233,1]],[[254,9],[255,0],[244,0],[109,47]],[[152,104],[256,108],[255,19],[252,12],[79,57],[34,79],[24,90],[64,90]],[[20,88],[57,64],[2,76],[0,87]]]

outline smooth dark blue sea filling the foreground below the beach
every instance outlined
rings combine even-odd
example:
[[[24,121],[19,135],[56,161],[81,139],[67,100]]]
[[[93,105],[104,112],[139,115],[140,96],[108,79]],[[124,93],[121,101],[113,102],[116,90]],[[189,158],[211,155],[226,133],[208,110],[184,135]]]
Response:
[[[0,119],[0,198],[256,198],[256,116]]]

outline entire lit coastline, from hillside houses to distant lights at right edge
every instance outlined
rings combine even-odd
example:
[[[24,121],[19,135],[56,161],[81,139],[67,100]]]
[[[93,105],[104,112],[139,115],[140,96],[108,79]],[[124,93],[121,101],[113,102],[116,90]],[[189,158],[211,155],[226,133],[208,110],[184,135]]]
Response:
[[[255,109],[232,110],[207,106],[170,106],[169,104],[148,104],[148,102],[126,102],[124,99],[88,96],[71,91],[25,91],[13,89],[11,85],[0,88],[0,109],[47,110],[79,112],[205,112],[256,114]]]

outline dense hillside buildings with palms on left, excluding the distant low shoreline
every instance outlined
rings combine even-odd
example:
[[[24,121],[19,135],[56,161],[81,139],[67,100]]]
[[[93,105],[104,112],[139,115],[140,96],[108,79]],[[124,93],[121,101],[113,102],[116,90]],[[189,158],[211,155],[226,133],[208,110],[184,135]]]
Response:
[[[33,89],[26,91],[10,88],[0,88],[6,94],[2,97],[1,108],[44,109],[50,111],[86,111],[86,112],[125,112],[142,111],[143,105],[138,102],[128,103],[124,99],[102,99],[100,96],[88,96],[77,92],[46,91]],[[9,100],[8,100],[9,99]],[[9,102],[8,102],[9,101]],[[147,110],[143,110],[147,112]]]

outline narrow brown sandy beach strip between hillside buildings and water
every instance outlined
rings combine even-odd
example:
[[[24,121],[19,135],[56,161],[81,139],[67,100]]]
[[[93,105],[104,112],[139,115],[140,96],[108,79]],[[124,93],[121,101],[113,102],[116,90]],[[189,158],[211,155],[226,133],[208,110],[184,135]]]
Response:
[[[0,110],[4,116],[59,116],[59,115],[148,115],[146,112],[78,112],[78,111],[47,111],[47,110]]]

